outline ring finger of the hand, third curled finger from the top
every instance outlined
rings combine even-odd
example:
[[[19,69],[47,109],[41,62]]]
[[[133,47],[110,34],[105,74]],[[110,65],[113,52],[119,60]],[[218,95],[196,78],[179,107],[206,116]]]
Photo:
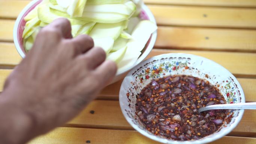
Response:
[[[94,47],[83,55],[78,56],[79,61],[86,63],[90,69],[95,69],[101,65],[106,59],[106,52],[99,47]]]

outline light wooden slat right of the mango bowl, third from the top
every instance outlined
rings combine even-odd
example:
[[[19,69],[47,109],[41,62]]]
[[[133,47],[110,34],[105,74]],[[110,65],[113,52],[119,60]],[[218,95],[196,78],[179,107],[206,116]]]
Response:
[[[256,52],[256,30],[159,26],[155,47]]]

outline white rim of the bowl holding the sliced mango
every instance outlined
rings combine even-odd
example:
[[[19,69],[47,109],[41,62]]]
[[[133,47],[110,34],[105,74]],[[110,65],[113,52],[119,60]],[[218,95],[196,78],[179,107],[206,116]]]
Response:
[[[22,58],[25,58],[25,53],[22,50],[21,46],[19,45],[19,41],[18,41],[18,28],[19,28],[19,24],[22,21],[22,18],[25,15],[25,13],[32,6],[34,6],[34,4],[36,4],[38,1],[41,1],[41,0],[33,0],[30,3],[28,3],[27,6],[24,7],[24,9],[22,9],[21,13],[19,13],[19,15],[18,15],[18,17],[17,17],[17,19],[15,21],[15,25],[14,25],[14,28],[13,28],[13,41],[14,41],[14,45],[15,45],[15,48],[18,51],[19,55]],[[141,8],[147,14],[149,20],[152,21],[154,24],[156,24],[155,17],[153,16],[153,13],[150,11],[150,9],[144,3],[142,4]],[[137,61],[131,67],[129,67],[127,70],[122,70],[122,71],[119,71],[118,73],[116,73],[116,76],[120,76],[120,75],[126,73],[127,71],[129,71],[132,68],[134,68],[137,64],[142,62],[147,57],[147,55],[149,55],[151,50],[153,49],[153,47],[155,45],[155,42],[156,42],[156,37],[157,37],[157,31],[152,33],[152,35],[151,35],[151,37],[149,39],[149,43],[148,43],[147,47],[145,48],[145,51],[141,54],[141,56],[137,59]]]

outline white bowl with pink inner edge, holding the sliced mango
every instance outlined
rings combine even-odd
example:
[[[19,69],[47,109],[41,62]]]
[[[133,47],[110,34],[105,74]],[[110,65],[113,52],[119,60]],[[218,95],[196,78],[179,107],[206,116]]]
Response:
[[[14,40],[15,47],[16,47],[19,55],[21,55],[22,58],[24,58],[25,54],[26,54],[24,46],[23,46],[23,40],[22,40],[22,33],[23,33],[23,30],[24,30],[24,27],[25,27],[24,17],[32,9],[34,9],[34,7],[36,7],[41,1],[42,0],[33,0],[33,1],[31,1],[27,6],[25,6],[25,8],[21,11],[18,18],[16,19],[14,29],[13,29],[13,40]],[[142,11],[140,13],[140,18],[150,20],[150,21],[152,21],[156,24],[156,21],[155,21],[155,18],[153,16],[152,12],[150,12],[149,8],[146,5],[142,6]],[[129,67],[128,69],[126,69],[126,70],[119,71],[116,74],[116,77],[114,78],[114,80],[111,83],[114,83],[114,82],[122,79],[122,77],[125,76],[127,71],[131,70],[133,67],[135,67],[137,64],[139,64],[141,61],[143,61],[147,57],[147,55],[149,55],[150,51],[153,49],[153,46],[155,45],[156,36],[157,36],[157,31],[155,31],[151,35],[149,41],[147,42],[147,45],[144,48],[144,52],[137,59],[135,64],[132,65],[131,67]]]

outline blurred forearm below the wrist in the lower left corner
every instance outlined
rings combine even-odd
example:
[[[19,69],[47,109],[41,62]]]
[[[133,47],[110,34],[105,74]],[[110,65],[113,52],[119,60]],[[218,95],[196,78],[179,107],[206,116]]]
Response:
[[[6,91],[0,94],[0,143],[24,144],[34,137],[33,120],[10,96]]]

